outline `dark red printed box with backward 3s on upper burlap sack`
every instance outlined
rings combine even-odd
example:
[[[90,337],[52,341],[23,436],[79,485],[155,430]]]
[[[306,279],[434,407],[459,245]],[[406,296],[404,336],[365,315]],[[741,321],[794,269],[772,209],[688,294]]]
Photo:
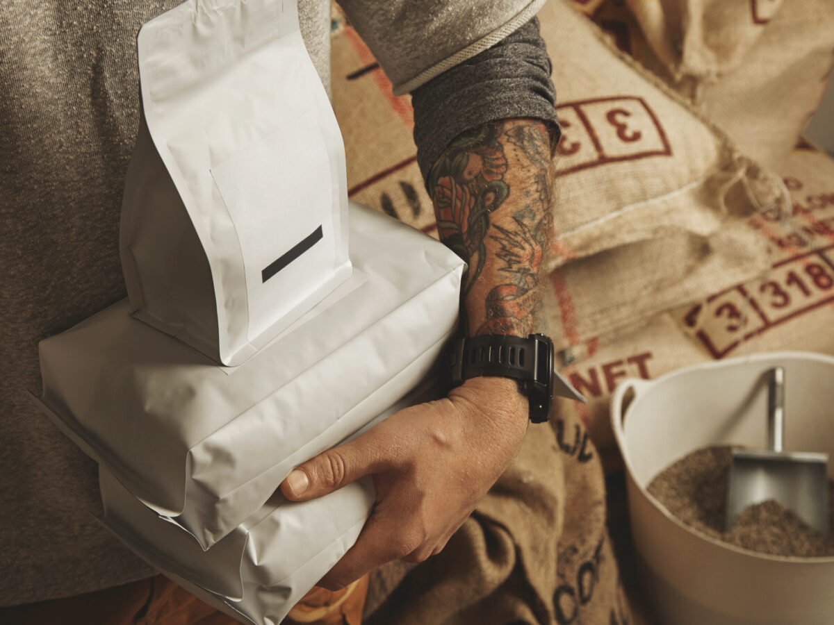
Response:
[[[602,97],[556,107],[562,138],[556,174],[607,163],[671,156],[661,123],[640,97]]]

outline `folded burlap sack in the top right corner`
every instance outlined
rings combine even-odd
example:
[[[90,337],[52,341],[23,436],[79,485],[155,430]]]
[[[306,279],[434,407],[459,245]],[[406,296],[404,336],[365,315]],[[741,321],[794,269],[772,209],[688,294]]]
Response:
[[[828,0],[573,2],[771,168],[790,152],[830,76]]]

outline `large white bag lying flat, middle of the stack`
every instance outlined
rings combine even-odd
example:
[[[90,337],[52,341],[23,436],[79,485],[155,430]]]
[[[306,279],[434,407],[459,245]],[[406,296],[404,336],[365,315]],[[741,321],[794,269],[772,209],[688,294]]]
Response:
[[[44,411],[203,548],[409,393],[455,331],[460,258],[369,208],[351,203],[349,216],[364,278],[237,368],[131,317],[127,302],[40,344]]]

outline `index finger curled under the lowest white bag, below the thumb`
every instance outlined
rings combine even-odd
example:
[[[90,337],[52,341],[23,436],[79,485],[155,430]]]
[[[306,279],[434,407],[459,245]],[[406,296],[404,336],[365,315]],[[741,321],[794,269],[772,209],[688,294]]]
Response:
[[[417,545],[409,537],[399,535],[401,532],[397,529],[384,518],[372,514],[354,546],[348,549],[316,586],[339,590],[374,568],[413,552]]]

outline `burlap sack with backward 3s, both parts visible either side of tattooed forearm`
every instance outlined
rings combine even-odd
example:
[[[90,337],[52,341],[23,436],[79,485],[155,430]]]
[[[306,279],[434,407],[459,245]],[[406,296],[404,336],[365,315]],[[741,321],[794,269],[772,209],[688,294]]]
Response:
[[[775,178],[620,58],[567,2],[551,0],[539,18],[564,133],[550,259],[550,270],[559,268],[551,277],[558,297],[546,289],[545,301],[562,311],[545,328],[555,343],[623,327],[766,266],[761,241],[737,218],[781,201]],[[390,95],[349,27],[334,38],[333,51],[350,196],[433,232],[407,101]]]

